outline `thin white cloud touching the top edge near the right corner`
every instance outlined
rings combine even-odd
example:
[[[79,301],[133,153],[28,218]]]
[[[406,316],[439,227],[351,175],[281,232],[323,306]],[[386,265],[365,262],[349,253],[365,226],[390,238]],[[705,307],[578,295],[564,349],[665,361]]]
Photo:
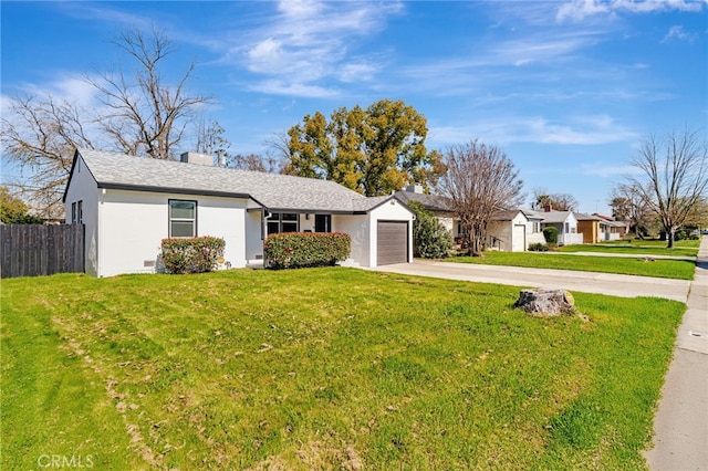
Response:
[[[555,19],[582,21],[595,15],[617,13],[652,13],[657,11],[701,11],[705,1],[691,0],[573,0],[559,7]]]

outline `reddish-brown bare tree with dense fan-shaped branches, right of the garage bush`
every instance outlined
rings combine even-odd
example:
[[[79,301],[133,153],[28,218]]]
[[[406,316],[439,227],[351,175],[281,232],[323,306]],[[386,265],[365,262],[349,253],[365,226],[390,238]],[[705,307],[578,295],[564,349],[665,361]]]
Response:
[[[470,253],[481,255],[487,224],[497,211],[521,205],[523,181],[501,149],[477,139],[450,147],[444,161],[448,169],[436,190],[468,230]]]

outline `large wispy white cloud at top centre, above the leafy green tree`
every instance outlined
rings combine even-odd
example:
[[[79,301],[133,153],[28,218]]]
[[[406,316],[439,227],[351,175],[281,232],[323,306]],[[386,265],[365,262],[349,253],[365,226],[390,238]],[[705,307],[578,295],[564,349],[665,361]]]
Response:
[[[384,57],[350,55],[358,41],[383,29],[400,9],[397,2],[282,1],[264,27],[239,36],[248,46],[231,49],[225,60],[242,60],[249,71],[266,76],[253,90],[331,96],[327,81],[374,78]]]

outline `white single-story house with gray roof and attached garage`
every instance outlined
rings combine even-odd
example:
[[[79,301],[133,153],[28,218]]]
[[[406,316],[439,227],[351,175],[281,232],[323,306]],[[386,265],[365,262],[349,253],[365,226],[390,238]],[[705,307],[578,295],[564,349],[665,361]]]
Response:
[[[159,270],[165,238],[226,241],[226,266],[261,264],[277,232],[346,232],[347,264],[413,261],[414,213],[393,196],[366,198],[333,181],[77,149],[64,192],[67,223],[85,224],[86,273]]]

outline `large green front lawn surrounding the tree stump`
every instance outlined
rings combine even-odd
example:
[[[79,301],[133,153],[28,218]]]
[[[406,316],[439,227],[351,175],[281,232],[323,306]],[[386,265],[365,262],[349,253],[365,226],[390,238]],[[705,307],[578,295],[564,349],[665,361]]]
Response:
[[[644,469],[685,308],[342,268],[1,287],[3,470]]]

